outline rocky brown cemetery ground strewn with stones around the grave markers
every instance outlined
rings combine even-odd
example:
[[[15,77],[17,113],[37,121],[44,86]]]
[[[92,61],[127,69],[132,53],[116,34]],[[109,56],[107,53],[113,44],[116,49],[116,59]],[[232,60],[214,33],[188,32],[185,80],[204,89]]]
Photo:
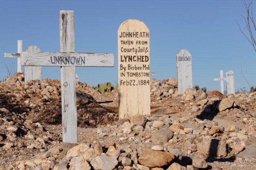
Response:
[[[151,116],[118,120],[118,89],[76,82],[77,145],[62,144],[60,81],[0,82],[1,169],[255,169],[256,92],[150,84]]]

